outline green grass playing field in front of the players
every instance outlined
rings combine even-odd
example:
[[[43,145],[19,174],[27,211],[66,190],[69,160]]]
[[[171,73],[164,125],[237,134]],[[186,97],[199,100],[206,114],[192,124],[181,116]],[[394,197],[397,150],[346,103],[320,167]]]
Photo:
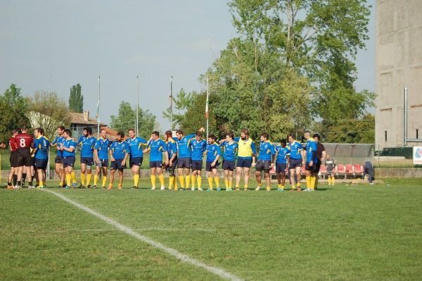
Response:
[[[421,280],[420,179],[313,193],[148,183],[49,190],[243,280]],[[0,280],[221,279],[49,192],[0,189],[0,225]]]

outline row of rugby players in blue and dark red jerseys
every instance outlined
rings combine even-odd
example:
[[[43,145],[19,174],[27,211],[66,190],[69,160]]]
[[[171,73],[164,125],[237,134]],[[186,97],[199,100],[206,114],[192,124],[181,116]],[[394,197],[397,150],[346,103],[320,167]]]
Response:
[[[115,173],[117,171],[117,188],[122,189],[123,170],[127,161],[132,170],[134,185],[132,189],[139,189],[140,167],[143,154],[149,153],[149,167],[151,169],[151,189],[156,189],[156,177],[160,182],[160,189],[165,189],[163,172],[169,173],[168,189],[203,190],[202,170],[205,157],[205,171],[209,188],[207,191],[222,190],[219,183],[218,169],[222,164],[224,170],[224,187],[226,191],[239,190],[243,175],[243,190],[248,190],[250,168],[255,167],[257,187],[262,188],[262,173],[267,191],[270,188],[270,170],[275,168],[278,180],[278,191],[283,191],[286,185],[286,173],[290,181],[291,191],[302,191],[300,184],[301,167],[305,166],[307,188],[314,191],[317,185],[317,175],[321,161],[325,158],[325,149],[319,143],[319,135],[311,137],[306,131],[304,137],[306,146],[288,135],[281,139],[280,144],[274,146],[269,141],[269,135],[260,135],[259,147],[249,137],[248,130],[242,130],[240,137],[232,133],[226,134],[225,139],[217,142],[215,135],[203,139],[205,129],[201,127],[196,134],[184,135],[177,130],[175,137],[171,131],[165,132],[165,139],[160,139],[159,132],[152,132],[147,140],[136,136],[133,129],[128,131],[125,139],[124,132],[118,132],[115,140],[107,138],[106,130],[101,130],[100,137],[92,135],[90,127],[85,127],[82,137],[77,141],[72,139],[72,131],[60,126],[57,136],[52,142],[44,136],[42,128],[34,130],[34,137],[27,133],[23,126],[21,132],[13,130],[9,139],[11,149],[11,173],[8,177],[8,188],[20,188],[28,180],[28,188],[45,188],[46,168],[49,160],[50,147],[56,150],[54,159],[55,170],[60,178],[61,188],[90,188],[94,169],[92,187],[97,188],[101,177],[103,189],[113,189]],[[75,155],[80,147],[81,175],[79,185],[75,175]],[[321,148],[322,146],[322,148]],[[164,156],[164,163],[163,163]],[[108,171],[110,170],[110,171]],[[234,171],[236,170],[236,185],[233,188]],[[108,175],[108,172],[110,172]],[[32,178],[37,185],[33,185]],[[12,183],[13,181],[13,183]],[[108,185],[107,185],[108,181]],[[98,185],[99,187],[99,185]]]

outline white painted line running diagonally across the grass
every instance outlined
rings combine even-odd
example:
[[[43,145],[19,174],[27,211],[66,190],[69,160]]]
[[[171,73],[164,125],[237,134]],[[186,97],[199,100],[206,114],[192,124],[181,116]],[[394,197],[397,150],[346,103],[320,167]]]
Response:
[[[231,273],[226,272],[225,270],[222,270],[221,268],[216,268],[215,266],[208,266],[207,264],[203,263],[202,261],[198,261],[195,258],[191,258],[190,256],[186,254],[181,254],[181,252],[177,251],[176,249],[172,249],[170,247],[167,247],[160,242],[155,242],[153,239],[148,238],[146,236],[140,235],[139,233],[134,232],[132,228],[127,227],[125,225],[121,225],[120,223],[117,223],[117,221],[112,220],[111,218],[108,218],[106,216],[101,215],[101,213],[97,213],[96,211],[91,210],[87,206],[84,206],[80,203],[77,203],[76,201],[72,201],[68,199],[68,197],[63,196],[62,194],[59,194],[57,192],[53,192],[51,190],[47,189],[41,189],[45,192],[49,192],[51,194],[54,194],[58,196],[58,198],[62,199],[63,201],[66,201],[74,206],[77,206],[77,208],[80,208],[82,211],[86,211],[87,213],[90,213],[93,216],[96,216],[97,218],[105,221],[109,225],[113,225],[118,230],[121,230],[122,232],[135,237],[136,239],[141,240],[142,242],[145,242],[146,244],[150,244],[151,246],[154,246],[157,249],[160,249],[162,251],[165,251],[167,254],[170,254],[177,258],[180,261],[184,261],[186,263],[191,263],[193,266],[198,266],[198,268],[204,268],[205,270],[208,270],[210,273],[213,273],[215,275],[218,275],[219,277],[222,277],[226,280],[234,280],[234,281],[241,281],[242,279],[237,277],[236,275],[233,275]]]

